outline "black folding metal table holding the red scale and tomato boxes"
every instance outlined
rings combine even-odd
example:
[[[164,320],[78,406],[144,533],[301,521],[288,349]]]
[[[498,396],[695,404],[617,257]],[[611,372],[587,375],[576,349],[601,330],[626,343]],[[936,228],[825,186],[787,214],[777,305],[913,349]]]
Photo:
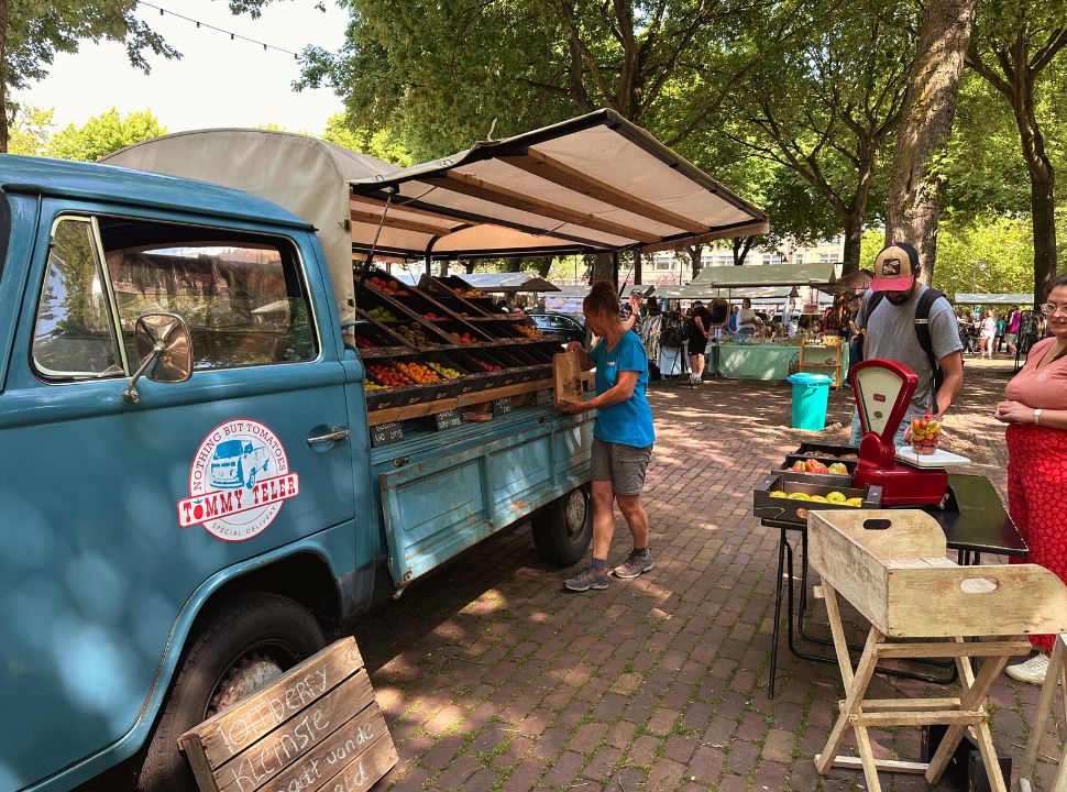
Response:
[[[1015,524],[1000,502],[1000,495],[997,494],[997,490],[993,488],[992,483],[986,476],[950,473],[948,475],[948,497],[944,507],[927,506],[923,508],[941,525],[942,530],[945,531],[946,542],[949,548],[957,551],[957,560],[960,564],[981,563],[983,552],[998,556],[1025,556],[1030,552],[1030,548],[1019,536]],[[774,679],[778,671],[778,639],[781,632],[783,572],[787,573],[784,587],[789,608],[785,620],[789,650],[803,660],[826,663],[836,663],[837,660],[833,657],[802,651],[796,648],[795,644],[794,613],[796,632],[801,637],[815,644],[833,645],[829,639],[809,635],[804,630],[804,614],[807,610],[807,524],[765,519],[760,520],[760,525],[779,530],[774,628],[771,637],[770,680],[767,688],[767,697],[773,698]],[[800,610],[794,610],[793,607],[793,546],[790,542],[788,531],[798,531],[801,535]],[[883,672],[925,682],[947,683],[955,679],[955,672],[947,679],[937,679],[909,671]]]

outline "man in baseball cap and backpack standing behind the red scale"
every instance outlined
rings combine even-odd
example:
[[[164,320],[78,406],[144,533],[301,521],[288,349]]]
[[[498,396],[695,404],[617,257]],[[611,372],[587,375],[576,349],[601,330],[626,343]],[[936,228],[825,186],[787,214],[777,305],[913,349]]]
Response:
[[[930,413],[941,419],[959,395],[964,345],[952,305],[920,279],[923,267],[914,248],[906,242],[886,245],[875,258],[873,271],[856,319],[866,330],[864,359],[897,361],[919,375],[897,432],[900,446],[908,439],[912,417]],[[935,384],[937,380],[939,384]],[[858,444],[860,440],[859,415],[854,411],[850,441]]]

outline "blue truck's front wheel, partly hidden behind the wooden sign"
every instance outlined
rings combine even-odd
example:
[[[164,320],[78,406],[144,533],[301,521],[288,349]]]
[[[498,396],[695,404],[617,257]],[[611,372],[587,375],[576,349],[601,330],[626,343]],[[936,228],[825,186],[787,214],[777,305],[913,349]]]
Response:
[[[319,651],[322,630],[295,600],[249,592],[213,607],[195,634],[148,741],[139,792],[196,792],[178,737]]]

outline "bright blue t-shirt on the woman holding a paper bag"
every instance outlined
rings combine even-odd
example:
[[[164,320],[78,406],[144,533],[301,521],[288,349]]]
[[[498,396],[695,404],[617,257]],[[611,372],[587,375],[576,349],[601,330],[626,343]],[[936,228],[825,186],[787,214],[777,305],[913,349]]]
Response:
[[[637,333],[625,332],[612,350],[607,349],[607,341],[601,339],[590,350],[590,358],[596,366],[597,396],[615,387],[619,372],[638,372],[632,396],[626,402],[596,410],[593,437],[603,442],[635,448],[651,446],[656,442],[656,432],[652,429],[652,408],[645,397],[648,387],[648,355],[645,344]]]

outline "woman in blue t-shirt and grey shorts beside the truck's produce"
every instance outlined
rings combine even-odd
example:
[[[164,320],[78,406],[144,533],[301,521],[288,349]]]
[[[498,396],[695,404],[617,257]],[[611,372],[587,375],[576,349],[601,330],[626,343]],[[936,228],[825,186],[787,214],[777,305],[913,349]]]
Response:
[[[596,396],[588,400],[562,399],[565,413],[596,410],[593,426],[593,560],[575,576],[563,582],[571,591],[607,588],[607,553],[615,534],[614,506],[629,526],[634,549],[614,569],[617,578],[637,578],[652,569],[648,549],[648,515],[641,506],[645,471],[652,455],[656,435],[652,409],[645,398],[648,387],[648,355],[641,340],[623,329],[618,320],[618,297],[608,280],[593,284],[582,301],[585,327],[600,341],[585,352],[572,341],[569,351],[582,356],[582,369],[596,367]]]

